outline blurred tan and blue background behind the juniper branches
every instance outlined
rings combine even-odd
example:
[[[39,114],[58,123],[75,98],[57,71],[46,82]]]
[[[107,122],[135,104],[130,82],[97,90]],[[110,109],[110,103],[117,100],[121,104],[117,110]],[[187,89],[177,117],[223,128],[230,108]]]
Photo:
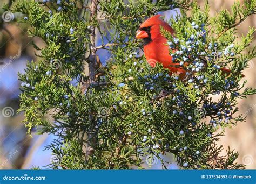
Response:
[[[2,0],[0,7],[10,2]],[[203,6],[204,1],[199,0],[198,3]],[[214,16],[223,8],[230,10],[234,1],[209,0],[209,3],[210,15]],[[165,12],[165,15],[170,16],[170,13],[172,12]],[[28,25],[12,22],[18,16],[6,14],[0,8],[0,169],[30,169],[32,166],[45,169],[43,166],[51,162],[51,151],[44,150],[44,145],[50,144],[54,135],[37,135],[36,130],[33,130],[30,137],[26,134],[27,130],[22,123],[23,113],[17,113],[18,96],[21,93],[19,91],[21,82],[18,81],[17,74],[24,72],[26,62],[37,60],[32,42],[39,47],[44,47],[44,43],[39,38],[28,37],[26,33]],[[249,26],[256,26],[256,15],[247,18],[238,26],[239,36],[246,34]],[[255,43],[256,39],[251,46]],[[248,81],[246,86],[256,88],[254,63],[256,65],[255,58],[249,62],[250,66],[244,71],[246,77],[243,80]],[[256,95],[240,100],[239,107],[239,113],[247,116],[246,122],[239,123],[232,130],[227,129],[226,136],[221,138],[219,144],[224,145],[224,150],[230,146],[232,150],[238,151],[238,162],[245,164],[247,169],[256,169]],[[170,167],[170,169],[177,168],[176,164]],[[160,169],[160,165],[156,162],[151,169]]]

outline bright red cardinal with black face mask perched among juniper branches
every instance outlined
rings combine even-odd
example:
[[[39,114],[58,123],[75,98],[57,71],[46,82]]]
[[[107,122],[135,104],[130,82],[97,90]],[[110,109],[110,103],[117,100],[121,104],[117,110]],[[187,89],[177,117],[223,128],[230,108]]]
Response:
[[[145,20],[139,27],[136,34],[136,39],[143,39],[144,54],[150,66],[155,67],[156,62],[163,64],[164,68],[168,68],[172,73],[179,75],[180,79],[184,79],[186,70],[179,66],[179,63],[172,61],[172,56],[169,53],[167,39],[160,33],[160,26],[165,30],[174,34],[172,27],[160,19],[161,15],[156,15]],[[207,63],[205,63],[207,65]],[[229,69],[220,68],[224,73],[230,73]]]

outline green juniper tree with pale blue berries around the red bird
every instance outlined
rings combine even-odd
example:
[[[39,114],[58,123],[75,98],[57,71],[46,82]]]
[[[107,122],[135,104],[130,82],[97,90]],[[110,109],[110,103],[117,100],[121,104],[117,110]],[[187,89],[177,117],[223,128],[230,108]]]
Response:
[[[174,62],[187,70],[185,80],[159,64],[151,68],[134,39],[146,17],[175,8],[181,13],[169,20],[174,36],[161,33]],[[241,82],[256,55],[249,47],[254,28],[241,41],[236,34],[236,26],[255,13],[254,0],[235,2],[231,12],[214,17],[207,2],[201,8],[186,0],[24,0],[5,10],[21,12],[29,36],[46,44],[34,44],[41,54],[19,74],[19,111],[28,133],[36,127],[58,137],[46,146],[56,156],[49,167],[143,168],[146,157],[149,165],[159,159],[168,168],[162,155],[172,154],[184,169],[244,168],[234,150],[220,155],[224,130],[217,130],[245,121],[237,100],[256,93]],[[107,61],[98,57],[104,50],[111,54]]]

